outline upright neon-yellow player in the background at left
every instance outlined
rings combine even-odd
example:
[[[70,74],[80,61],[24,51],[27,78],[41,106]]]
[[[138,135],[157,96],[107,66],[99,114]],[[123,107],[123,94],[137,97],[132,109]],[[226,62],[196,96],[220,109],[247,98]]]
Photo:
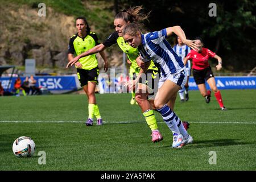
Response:
[[[74,57],[73,54],[81,55],[82,52],[88,51],[89,49],[97,46],[98,38],[93,32],[90,32],[90,27],[87,20],[84,17],[76,19],[77,34],[73,35],[69,40],[68,48],[68,60],[71,61]],[[105,65],[105,71],[108,71],[108,60],[105,56],[104,51],[99,51],[103,58]],[[96,102],[95,88],[98,84],[98,61],[96,55],[90,55],[88,57],[82,57],[75,64],[77,68],[77,76],[80,84],[88,97],[88,119],[86,126],[93,125],[94,115],[97,119],[97,125],[102,125],[102,118],[98,105]]]

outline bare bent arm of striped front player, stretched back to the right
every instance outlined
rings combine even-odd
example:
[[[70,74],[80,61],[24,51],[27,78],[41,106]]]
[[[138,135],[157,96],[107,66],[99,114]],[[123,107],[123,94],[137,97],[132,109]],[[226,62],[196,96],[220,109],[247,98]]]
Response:
[[[168,27],[166,28],[166,34],[167,36],[172,35],[172,33],[176,34],[177,36],[180,37],[182,42],[186,44],[187,46],[191,47],[192,49],[196,50],[196,44],[194,43],[195,40],[188,40],[186,38],[185,32],[181,29],[180,26],[174,26],[174,27]]]

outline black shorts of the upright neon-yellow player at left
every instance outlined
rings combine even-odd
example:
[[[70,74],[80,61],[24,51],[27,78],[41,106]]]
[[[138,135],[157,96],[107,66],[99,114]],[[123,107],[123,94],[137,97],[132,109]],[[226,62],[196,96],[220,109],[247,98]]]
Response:
[[[88,84],[88,81],[93,81],[98,84],[98,72],[98,67],[91,70],[77,68],[77,76],[79,78],[80,85],[85,86]]]

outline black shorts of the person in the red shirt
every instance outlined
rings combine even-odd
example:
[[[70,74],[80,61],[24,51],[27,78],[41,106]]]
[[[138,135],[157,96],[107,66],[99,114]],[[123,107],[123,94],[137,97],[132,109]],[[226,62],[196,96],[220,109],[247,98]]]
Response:
[[[208,80],[211,77],[214,77],[212,68],[208,67],[205,69],[193,69],[193,77],[196,81],[196,85],[204,84],[205,80]]]

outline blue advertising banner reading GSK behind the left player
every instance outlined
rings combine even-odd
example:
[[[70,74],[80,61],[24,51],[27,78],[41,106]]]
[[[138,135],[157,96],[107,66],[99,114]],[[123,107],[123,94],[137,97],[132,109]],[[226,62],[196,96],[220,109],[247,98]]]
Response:
[[[3,89],[14,92],[14,82],[17,77],[1,77]],[[26,77],[20,77],[22,82]],[[63,93],[77,90],[77,76],[35,76],[36,86],[39,88],[47,88],[52,93]],[[9,88],[8,88],[9,85]]]

